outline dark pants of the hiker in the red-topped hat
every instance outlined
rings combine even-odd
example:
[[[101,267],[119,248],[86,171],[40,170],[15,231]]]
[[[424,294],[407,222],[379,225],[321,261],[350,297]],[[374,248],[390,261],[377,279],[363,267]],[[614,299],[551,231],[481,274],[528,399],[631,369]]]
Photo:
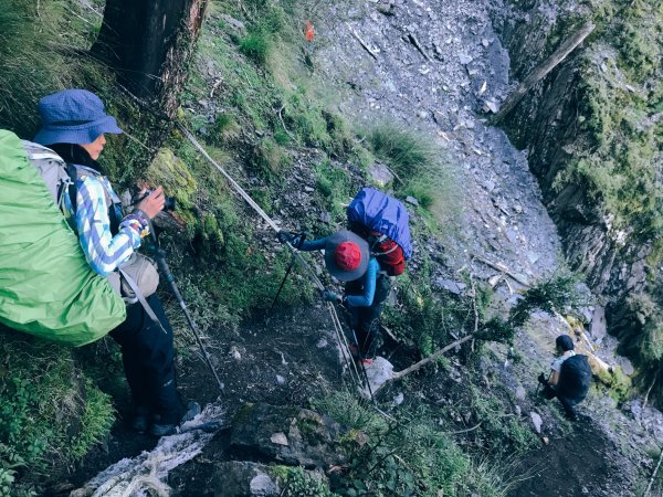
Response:
[[[373,359],[380,346],[380,328],[379,318],[385,308],[385,302],[391,289],[391,281],[389,276],[380,273],[376,281],[376,293],[373,302],[368,307],[348,306],[350,314],[349,325],[355,334],[359,357],[362,359]],[[361,295],[364,286],[361,283],[349,282],[346,285],[346,295]]]

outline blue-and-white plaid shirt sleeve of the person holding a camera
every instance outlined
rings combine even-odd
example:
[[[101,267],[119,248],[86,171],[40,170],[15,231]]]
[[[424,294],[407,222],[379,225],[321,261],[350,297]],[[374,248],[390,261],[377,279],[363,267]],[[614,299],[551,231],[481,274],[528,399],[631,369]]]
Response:
[[[98,179],[86,176],[76,180],[76,188],[78,240],[92,268],[107,276],[140,246],[140,233],[145,226],[138,216],[129,214],[113,236],[103,184]]]

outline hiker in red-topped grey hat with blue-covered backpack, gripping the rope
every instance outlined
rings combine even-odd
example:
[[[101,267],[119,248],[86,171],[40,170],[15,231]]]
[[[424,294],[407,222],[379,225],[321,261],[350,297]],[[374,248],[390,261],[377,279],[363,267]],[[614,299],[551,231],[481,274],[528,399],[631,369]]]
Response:
[[[391,277],[403,273],[410,258],[409,213],[398,200],[362,188],[347,209],[349,231],[305,241],[302,233],[281,231],[278,240],[301,251],[325,251],[332,276],[344,282],[343,295],[323,292],[323,299],[343,305],[352,330],[350,352],[365,364],[380,345],[379,318],[391,289]]]

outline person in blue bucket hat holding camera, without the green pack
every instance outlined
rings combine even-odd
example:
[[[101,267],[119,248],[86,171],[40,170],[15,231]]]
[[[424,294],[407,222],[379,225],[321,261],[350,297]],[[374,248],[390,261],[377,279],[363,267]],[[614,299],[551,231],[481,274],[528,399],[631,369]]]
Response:
[[[63,209],[77,232],[85,257],[99,275],[109,279],[115,276],[128,304],[126,320],[109,335],[122,348],[135,406],[131,426],[138,432],[149,426],[156,436],[175,433],[181,422],[200,412],[200,406],[190,402],[185,408],[179,398],[172,328],[154,294],[158,274],[154,266],[148,267],[146,257],[137,255],[141,240],[149,234],[149,220],[164,208],[164,189],[157,187],[129,214],[123,215],[119,199],[97,162],[106,144],[104,134],[123,131],[95,94],[85,89],[57,92],[40,101],[39,112],[42,128],[34,141],[55,151],[67,165],[73,182],[63,194]],[[140,288],[134,288],[136,282],[129,282],[130,288],[127,287],[125,273],[119,284],[117,269],[124,271],[134,263],[143,266],[140,274],[154,272],[144,304],[137,302],[141,298],[140,284]]]

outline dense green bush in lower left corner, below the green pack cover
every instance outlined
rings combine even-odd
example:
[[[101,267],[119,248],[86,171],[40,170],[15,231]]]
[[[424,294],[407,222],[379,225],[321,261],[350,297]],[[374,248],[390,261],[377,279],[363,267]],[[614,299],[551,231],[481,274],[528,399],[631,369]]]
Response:
[[[110,400],[77,370],[71,349],[2,329],[0,351],[0,467],[35,478],[108,433]]]

